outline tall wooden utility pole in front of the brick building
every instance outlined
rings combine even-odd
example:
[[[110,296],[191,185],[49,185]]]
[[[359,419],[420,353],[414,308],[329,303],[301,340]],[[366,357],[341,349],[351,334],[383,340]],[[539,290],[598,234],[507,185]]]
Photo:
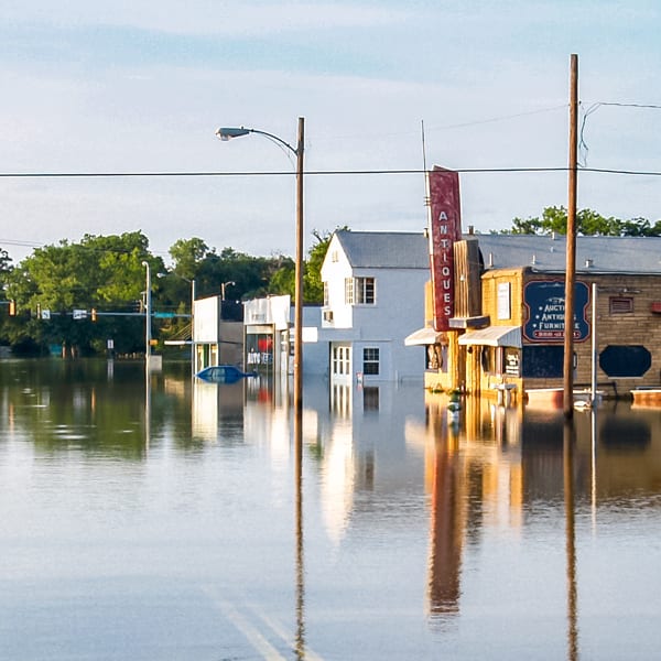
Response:
[[[578,166],[578,55],[572,54],[570,83],[570,191],[565,268],[564,414],[574,415],[574,290],[576,282],[576,188]]]

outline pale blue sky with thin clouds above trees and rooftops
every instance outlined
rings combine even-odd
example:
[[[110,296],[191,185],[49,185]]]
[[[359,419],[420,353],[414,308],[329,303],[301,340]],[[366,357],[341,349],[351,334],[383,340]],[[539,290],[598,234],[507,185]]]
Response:
[[[583,108],[661,104],[658,1],[0,3],[0,172],[290,171],[251,126],[294,143],[308,171],[562,167],[570,54]],[[494,120],[494,121],[488,121]],[[661,110],[602,106],[592,167],[661,171]],[[463,174],[464,227],[566,204],[566,174]],[[141,229],[252,254],[292,253],[293,176],[1,178],[0,246]],[[420,174],[311,175],[313,229],[422,230]],[[584,173],[578,203],[661,218],[661,177]]]

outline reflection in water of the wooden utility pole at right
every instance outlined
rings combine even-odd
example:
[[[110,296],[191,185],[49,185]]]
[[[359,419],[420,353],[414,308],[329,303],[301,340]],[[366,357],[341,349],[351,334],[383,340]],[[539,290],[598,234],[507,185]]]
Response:
[[[567,658],[578,658],[578,596],[576,589],[576,531],[574,525],[574,421],[565,420],[563,437],[563,475],[567,555]]]

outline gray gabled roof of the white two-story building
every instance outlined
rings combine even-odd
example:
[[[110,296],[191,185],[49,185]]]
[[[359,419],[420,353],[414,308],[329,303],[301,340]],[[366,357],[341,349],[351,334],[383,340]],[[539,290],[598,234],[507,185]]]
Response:
[[[422,232],[335,232],[355,269],[429,269],[429,242]]]

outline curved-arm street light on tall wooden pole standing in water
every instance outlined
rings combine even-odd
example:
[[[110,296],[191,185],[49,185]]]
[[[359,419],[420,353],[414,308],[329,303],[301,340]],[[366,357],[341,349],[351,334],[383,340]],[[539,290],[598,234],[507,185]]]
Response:
[[[300,416],[303,411],[303,138],[305,119],[299,117],[299,141],[294,149],[291,144],[267,131],[258,129],[220,128],[216,136],[220,140],[240,138],[248,133],[258,133],[274,140],[296,156],[296,262],[294,284],[294,411]]]

